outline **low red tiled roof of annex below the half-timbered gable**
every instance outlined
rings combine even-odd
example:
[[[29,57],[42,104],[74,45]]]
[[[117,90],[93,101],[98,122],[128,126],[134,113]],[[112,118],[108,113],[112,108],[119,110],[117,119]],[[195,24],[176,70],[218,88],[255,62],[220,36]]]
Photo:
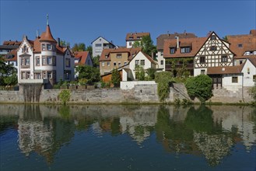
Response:
[[[207,75],[214,74],[239,74],[242,72],[244,64],[229,67],[209,67],[207,68]]]

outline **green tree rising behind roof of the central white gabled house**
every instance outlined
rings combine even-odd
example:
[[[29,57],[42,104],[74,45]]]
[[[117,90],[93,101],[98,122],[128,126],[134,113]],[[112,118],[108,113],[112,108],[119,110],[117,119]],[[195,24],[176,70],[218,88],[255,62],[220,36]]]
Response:
[[[152,53],[156,54],[156,46],[153,45],[153,40],[149,35],[143,36],[140,42],[135,41],[132,47],[142,47],[142,51],[149,56],[151,56]]]

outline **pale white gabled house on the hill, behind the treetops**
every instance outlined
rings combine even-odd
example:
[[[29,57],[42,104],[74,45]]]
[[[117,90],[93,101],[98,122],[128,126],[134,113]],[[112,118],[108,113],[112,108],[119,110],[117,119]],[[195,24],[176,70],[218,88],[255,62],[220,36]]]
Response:
[[[114,44],[107,41],[103,37],[98,37],[96,38],[96,40],[92,42],[92,47],[93,47],[93,58],[94,58],[97,55],[100,56],[103,49],[114,48],[115,46]]]

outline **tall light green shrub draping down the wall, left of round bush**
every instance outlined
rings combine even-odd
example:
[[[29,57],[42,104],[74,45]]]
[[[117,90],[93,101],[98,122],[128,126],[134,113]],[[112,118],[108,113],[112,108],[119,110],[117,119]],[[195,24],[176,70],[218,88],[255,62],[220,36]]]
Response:
[[[157,94],[160,101],[167,99],[170,93],[169,83],[172,80],[171,72],[156,72]]]

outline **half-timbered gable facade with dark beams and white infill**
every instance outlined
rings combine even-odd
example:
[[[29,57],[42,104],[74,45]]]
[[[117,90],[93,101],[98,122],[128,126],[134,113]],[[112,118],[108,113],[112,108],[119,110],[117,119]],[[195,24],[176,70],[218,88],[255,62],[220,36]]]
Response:
[[[195,76],[207,74],[207,68],[233,66],[234,54],[229,46],[212,32],[195,55]]]

